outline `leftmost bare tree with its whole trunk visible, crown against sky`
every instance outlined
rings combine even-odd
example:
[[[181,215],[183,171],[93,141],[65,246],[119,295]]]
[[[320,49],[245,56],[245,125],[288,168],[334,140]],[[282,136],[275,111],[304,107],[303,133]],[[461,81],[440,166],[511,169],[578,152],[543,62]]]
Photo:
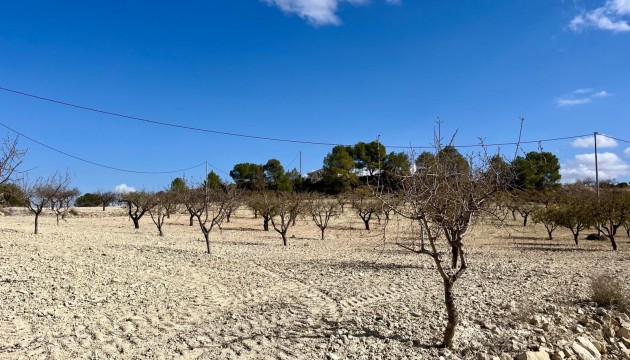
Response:
[[[48,178],[38,177],[32,183],[23,180],[21,191],[16,195],[22,196],[21,200],[35,215],[35,234],[39,232],[39,215],[44,207],[52,203],[59,192],[67,190],[69,184],[70,175],[67,173],[54,173]]]

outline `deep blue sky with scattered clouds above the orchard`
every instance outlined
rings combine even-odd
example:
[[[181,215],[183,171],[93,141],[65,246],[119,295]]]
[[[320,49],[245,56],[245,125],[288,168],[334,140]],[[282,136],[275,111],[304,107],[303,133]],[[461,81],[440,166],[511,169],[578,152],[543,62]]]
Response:
[[[387,145],[428,145],[438,116],[442,134],[458,131],[456,144],[515,141],[521,116],[524,140],[594,131],[628,140],[628,21],[630,0],[5,1],[0,86],[185,126],[314,142],[380,135]],[[5,91],[0,122],[113,167],[167,171],[208,161],[224,178],[239,162],[277,158],[298,167],[300,152],[306,173],[331,149],[160,127]],[[4,133],[12,135],[0,126]],[[601,141],[603,177],[628,180],[630,144]],[[120,184],[157,190],[182,176],[102,169],[20,143],[29,149],[30,177],[67,170],[85,192]],[[558,155],[570,180],[592,174],[588,145],[542,147]]]

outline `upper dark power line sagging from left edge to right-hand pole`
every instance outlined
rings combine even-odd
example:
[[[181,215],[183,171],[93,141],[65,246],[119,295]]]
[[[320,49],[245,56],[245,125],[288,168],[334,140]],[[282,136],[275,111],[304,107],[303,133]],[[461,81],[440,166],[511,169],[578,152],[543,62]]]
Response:
[[[164,121],[151,120],[148,118],[142,118],[142,117],[137,117],[137,116],[132,116],[132,115],[125,115],[125,114],[121,114],[121,113],[117,113],[113,111],[97,109],[97,108],[84,106],[84,105],[78,105],[78,104],[70,103],[67,101],[47,98],[47,97],[43,97],[43,96],[39,96],[35,94],[26,93],[19,90],[5,88],[2,86],[0,86],[0,90],[17,94],[17,95],[21,95],[21,96],[30,97],[37,100],[47,101],[47,102],[58,104],[58,105],[72,107],[76,109],[91,111],[91,112],[95,112],[99,114],[119,117],[119,118],[128,119],[128,120],[140,121],[140,122],[149,123],[153,125],[168,126],[168,127],[184,129],[184,130],[205,132],[205,133],[225,135],[225,136],[234,136],[234,137],[241,137],[241,138],[248,138],[248,139],[256,139],[256,140],[288,142],[288,143],[296,143],[296,144],[325,145],[325,146],[351,146],[348,144],[337,144],[337,143],[328,143],[328,142],[319,142],[319,141],[306,141],[306,140],[297,140],[297,139],[283,139],[283,138],[274,138],[274,137],[267,137],[267,136],[258,136],[258,135],[251,135],[251,134],[242,134],[242,133],[234,133],[234,132],[227,132],[227,131],[204,129],[204,128],[199,128],[199,127],[194,127],[194,126],[187,126],[187,125],[174,124],[174,123],[169,123],[169,122],[164,122]],[[472,148],[472,147],[481,147],[481,146],[490,147],[490,146],[508,146],[508,145],[519,145],[519,144],[534,144],[534,143],[542,143],[542,142],[576,139],[579,137],[590,136],[590,135],[591,134],[566,136],[566,137],[551,138],[551,139],[539,139],[539,140],[531,140],[531,141],[494,143],[494,144],[454,145],[454,147],[455,148]],[[391,149],[433,149],[434,148],[433,146],[397,146],[397,145],[385,145],[385,147],[388,147]]]

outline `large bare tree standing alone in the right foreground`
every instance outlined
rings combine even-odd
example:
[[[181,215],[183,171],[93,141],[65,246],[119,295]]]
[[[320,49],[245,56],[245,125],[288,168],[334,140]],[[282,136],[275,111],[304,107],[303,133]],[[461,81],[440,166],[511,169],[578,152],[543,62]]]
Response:
[[[426,169],[401,178],[403,201],[392,206],[396,213],[417,221],[422,229],[424,235],[418,244],[399,245],[433,259],[442,278],[447,312],[442,346],[451,348],[459,323],[454,285],[468,269],[464,238],[477,215],[497,211],[492,197],[510,179],[492,167],[485,151],[462,161],[452,140],[443,148],[436,136],[434,146],[435,154]],[[448,152],[443,151],[447,148]],[[447,256],[450,261],[445,259]]]

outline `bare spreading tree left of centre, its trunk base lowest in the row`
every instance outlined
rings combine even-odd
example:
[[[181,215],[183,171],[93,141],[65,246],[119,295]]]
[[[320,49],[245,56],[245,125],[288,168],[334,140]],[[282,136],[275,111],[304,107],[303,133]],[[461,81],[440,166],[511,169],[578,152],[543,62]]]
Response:
[[[235,187],[220,187],[204,190],[203,188],[190,189],[186,198],[189,207],[197,218],[199,228],[206,240],[206,250],[210,254],[210,233],[226,219],[228,209],[238,201],[240,192]]]

